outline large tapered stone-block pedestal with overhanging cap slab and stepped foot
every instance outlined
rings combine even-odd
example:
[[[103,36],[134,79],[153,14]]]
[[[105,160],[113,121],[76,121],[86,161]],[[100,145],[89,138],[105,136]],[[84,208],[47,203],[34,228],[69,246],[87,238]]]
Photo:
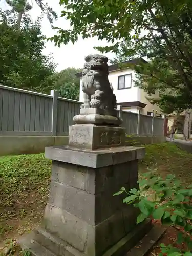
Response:
[[[113,194],[138,186],[138,159],[143,156],[144,148],[138,147],[47,147],[46,157],[53,160],[49,202],[41,227],[22,240],[23,246],[39,256],[127,252],[151,223],[136,226],[137,209],[123,204],[125,194]]]

